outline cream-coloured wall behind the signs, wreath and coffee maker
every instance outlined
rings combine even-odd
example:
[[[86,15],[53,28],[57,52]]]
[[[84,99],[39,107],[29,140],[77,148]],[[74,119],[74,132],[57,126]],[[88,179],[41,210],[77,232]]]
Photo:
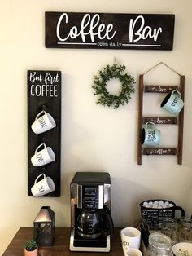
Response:
[[[174,48],[173,51],[46,49],[45,11],[175,14]],[[76,170],[110,172],[112,216],[116,226],[132,225],[138,217],[137,203],[156,197],[175,201],[187,215],[191,214],[191,27],[190,0],[1,0],[0,254],[19,227],[33,226],[42,205],[50,205],[55,211],[57,227],[69,227],[69,183]],[[136,93],[129,104],[117,110],[95,104],[91,88],[94,74],[106,64],[112,64],[115,56],[137,81]],[[142,157],[142,166],[137,165],[138,77],[159,61],[185,75],[182,166],[178,166],[177,158],[172,156]],[[61,70],[63,74],[59,198],[27,196],[28,69]],[[160,66],[146,75],[147,81],[177,83],[178,77]],[[146,97],[149,97],[146,102],[151,102],[151,96]],[[148,107],[146,104],[145,108]],[[153,108],[155,113],[159,111],[158,107]],[[172,126],[162,132],[165,144],[175,143],[177,132]]]

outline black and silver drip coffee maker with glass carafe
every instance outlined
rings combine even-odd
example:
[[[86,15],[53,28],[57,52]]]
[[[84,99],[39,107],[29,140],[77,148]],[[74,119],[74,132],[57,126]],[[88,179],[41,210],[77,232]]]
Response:
[[[111,179],[106,172],[77,172],[71,183],[70,250],[111,249]]]

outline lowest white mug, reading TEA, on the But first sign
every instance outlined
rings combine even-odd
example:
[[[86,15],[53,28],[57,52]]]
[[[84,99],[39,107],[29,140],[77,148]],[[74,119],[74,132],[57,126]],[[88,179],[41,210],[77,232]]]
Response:
[[[43,176],[43,179],[38,179]],[[52,191],[55,191],[55,183],[50,177],[46,177],[46,174],[40,174],[35,179],[34,185],[31,188],[33,196],[44,196]]]

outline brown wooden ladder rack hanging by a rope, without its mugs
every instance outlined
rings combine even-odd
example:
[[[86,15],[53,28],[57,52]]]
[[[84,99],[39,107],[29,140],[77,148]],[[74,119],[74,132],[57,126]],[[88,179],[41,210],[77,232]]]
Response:
[[[163,64],[165,67],[170,69],[173,73],[176,73],[180,77],[180,84],[178,86],[160,86],[161,90],[159,90],[159,85],[145,85],[144,84],[144,76],[146,73],[151,72],[154,68]],[[152,68],[148,69],[146,73],[143,73],[139,76],[139,101],[138,101],[138,140],[137,140],[137,164],[142,165],[142,155],[147,156],[177,156],[177,164],[182,164],[182,148],[183,148],[183,123],[184,123],[184,108],[182,108],[181,112],[177,117],[143,117],[143,94],[144,93],[170,93],[172,90],[178,90],[181,92],[181,99],[184,101],[185,94],[185,76],[177,73],[175,70],[170,68],[164,62],[159,62]],[[172,124],[178,125],[178,139],[177,139],[177,147],[145,147],[142,146],[142,126],[146,124],[146,122],[154,122],[155,124]]]

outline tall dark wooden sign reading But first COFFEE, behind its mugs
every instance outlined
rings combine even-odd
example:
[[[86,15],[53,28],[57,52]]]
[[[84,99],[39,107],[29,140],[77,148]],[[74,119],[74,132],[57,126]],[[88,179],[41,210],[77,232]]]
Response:
[[[37,114],[42,111],[54,118],[56,126],[36,134],[31,126]],[[28,196],[33,196],[31,188],[40,174],[46,174],[55,183],[55,190],[43,196],[60,196],[60,141],[61,72],[28,70]],[[31,157],[41,143],[53,150],[55,161],[43,166],[33,166]]]

